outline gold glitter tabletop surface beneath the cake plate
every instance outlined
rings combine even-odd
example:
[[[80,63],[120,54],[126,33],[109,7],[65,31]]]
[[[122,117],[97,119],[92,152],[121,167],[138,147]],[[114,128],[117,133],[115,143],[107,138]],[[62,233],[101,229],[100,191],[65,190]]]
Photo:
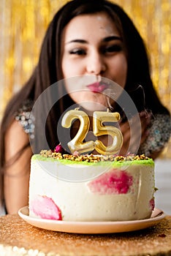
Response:
[[[171,216],[145,230],[80,235],[42,230],[18,214],[0,217],[0,255],[171,255]]]

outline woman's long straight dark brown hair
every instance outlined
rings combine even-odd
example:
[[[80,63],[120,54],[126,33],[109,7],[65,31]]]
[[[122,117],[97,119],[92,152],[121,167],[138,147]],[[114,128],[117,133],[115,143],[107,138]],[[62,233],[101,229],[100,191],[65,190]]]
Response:
[[[69,1],[61,7],[56,13],[53,20],[45,34],[45,38],[42,42],[42,49],[39,56],[37,67],[34,69],[31,78],[23,86],[23,88],[10,100],[4,111],[4,118],[1,121],[1,151],[0,151],[0,162],[1,162],[1,184],[2,189],[2,176],[4,169],[4,136],[7,131],[9,124],[12,123],[15,113],[23,104],[25,99],[31,99],[36,102],[39,95],[42,94],[48,86],[53,85],[58,80],[63,78],[61,70],[61,35],[64,27],[69,20],[72,20],[77,15],[91,14],[96,12],[106,12],[110,15],[110,18],[115,22],[115,26],[123,38],[123,45],[126,48],[126,56],[128,62],[128,74],[126,80],[126,91],[130,94],[134,100],[138,110],[141,108],[148,108],[153,113],[168,113],[167,109],[161,104],[159,97],[157,97],[156,91],[153,88],[150,74],[150,64],[148,61],[147,50],[145,44],[140,37],[137,29],[135,28],[132,20],[126,15],[121,7],[117,4],[113,4],[107,0],[73,0]],[[137,97],[133,98],[134,91],[137,91],[137,86],[142,89],[145,100],[142,103],[137,100]],[[59,88],[60,87],[60,88]],[[56,95],[62,94],[61,86],[56,87]],[[53,95],[54,96],[54,95]],[[44,102],[42,102],[39,110],[35,114],[35,119],[41,123],[41,116],[44,113],[45,108],[50,106],[50,100],[52,95],[47,95]],[[61,113],[64,112],[69,105],[72,105],[72,99],[69,96],[58,100],[47,117],[46,123],[46,140],[50,148],[54,148],[58,144],[58,137],[56,134],[56,126]],[[142,106],[143,104],[143,106]],[[52,125],[53,124],[53,125]],[[37,131],[37,126],[35,133]],[[29,143],[28,145],[29,146]],[[34,143],[35,152],[42,148],[41,141]],[[1,192],[2,195],[2,192]]]

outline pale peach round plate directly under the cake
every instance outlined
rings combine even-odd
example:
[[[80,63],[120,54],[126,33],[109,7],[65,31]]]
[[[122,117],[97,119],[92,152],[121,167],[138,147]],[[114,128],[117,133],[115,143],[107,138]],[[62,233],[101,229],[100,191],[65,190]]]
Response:
[[[45,230],[82,234],[121,233],[142,230],[146,227],[156,225],[166,216],[163,211],[155,208],[150,219],[132,220],[128,222],[67,222],[30,217],[28,216],[28,206],[20,208],[18,214],[34,227],[40,227]]]

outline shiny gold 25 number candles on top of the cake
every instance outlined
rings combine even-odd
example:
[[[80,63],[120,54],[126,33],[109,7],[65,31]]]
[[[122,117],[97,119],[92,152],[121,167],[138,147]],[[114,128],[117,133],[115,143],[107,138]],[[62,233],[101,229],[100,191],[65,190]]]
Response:
[[[110,113],[110,112],[102,112],[102,111],[95,111],[93,116],[93,127],[94,127],[94,135],[95,136],[102,136],[102,135],[110,135],[113,138],[113,143],[110,146],[104,146],[102,141],[90,140],[88,142],[83,143],[83,140],[86,138],[88,133],[88,129],[90,127],[90,120],[88,115],[81,110],[69,110],[65,113],[64,117],[62,118],[61,125],[62,127],[69,128],[72,125],[72,121],[75,119],[80,120],[80,127],[77,131],[77,135],[68,143],[68,147],[72,154],[75,151],[79,153],[84,153],[88,151],[96,151],[99,154],[116,154],[122,146],[123,143],[123,136],[121,131],[112,126],[104,126],[104,121],[119,121],[120,115],[119,113]]]

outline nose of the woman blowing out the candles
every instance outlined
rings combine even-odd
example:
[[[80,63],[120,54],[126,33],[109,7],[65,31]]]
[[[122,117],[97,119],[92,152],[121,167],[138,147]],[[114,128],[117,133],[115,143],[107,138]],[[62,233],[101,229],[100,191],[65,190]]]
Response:
[[[106,70],[104,59],[100,54],[94,53],[87,59],[87,72],[91,75],[101,75]]]

